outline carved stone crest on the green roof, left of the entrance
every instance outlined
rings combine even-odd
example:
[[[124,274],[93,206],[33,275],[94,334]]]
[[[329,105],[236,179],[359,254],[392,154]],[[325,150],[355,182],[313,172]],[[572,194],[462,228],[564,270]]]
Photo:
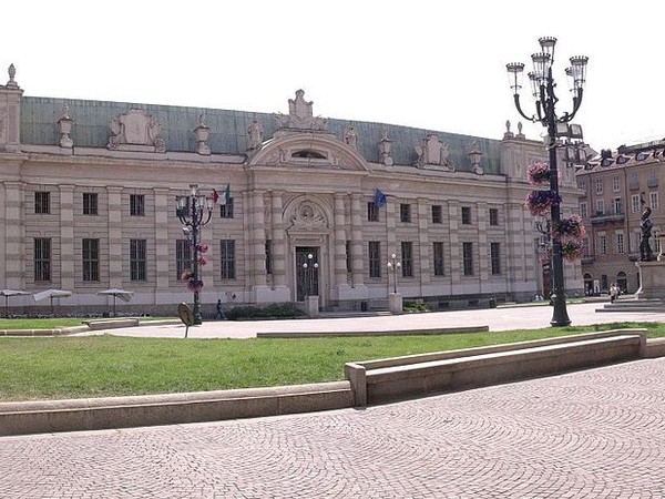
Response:
[[[119,151],[166,152],[162,125],[147,111],[132,108],[109,122],[106,147]]]

